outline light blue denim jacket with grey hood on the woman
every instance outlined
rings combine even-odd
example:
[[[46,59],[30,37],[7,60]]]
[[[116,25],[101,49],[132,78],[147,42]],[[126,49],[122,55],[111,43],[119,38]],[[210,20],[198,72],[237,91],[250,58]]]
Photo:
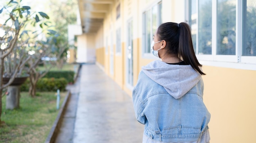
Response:
[[[132,99],[144,134],[155,141],[193,142],[208,130],[201,75],[190,65],[154,61],[139,73]]]

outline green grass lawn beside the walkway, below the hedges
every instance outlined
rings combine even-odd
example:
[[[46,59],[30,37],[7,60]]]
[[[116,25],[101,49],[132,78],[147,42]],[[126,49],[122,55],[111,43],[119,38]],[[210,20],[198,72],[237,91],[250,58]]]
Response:
[[[0,143],[44,143],[58,115],[56,93],[40,92],[35,98],[21,93],[20,108],[6,110],[6,96],[2,98]],[[60,108],[67,92],[61,93]]]

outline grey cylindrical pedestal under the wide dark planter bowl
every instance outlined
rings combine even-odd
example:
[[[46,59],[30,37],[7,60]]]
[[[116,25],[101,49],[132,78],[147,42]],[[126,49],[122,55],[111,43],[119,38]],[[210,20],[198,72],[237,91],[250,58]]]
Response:
[[[7,87],[6,109],[13,110],[20,107],[20,85]]]

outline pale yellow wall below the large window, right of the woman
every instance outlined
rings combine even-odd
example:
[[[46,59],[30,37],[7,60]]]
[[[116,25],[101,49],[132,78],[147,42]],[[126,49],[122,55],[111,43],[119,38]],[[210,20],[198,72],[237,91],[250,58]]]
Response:
[[[256,142],[256,71],[204,66],[211,143]]]

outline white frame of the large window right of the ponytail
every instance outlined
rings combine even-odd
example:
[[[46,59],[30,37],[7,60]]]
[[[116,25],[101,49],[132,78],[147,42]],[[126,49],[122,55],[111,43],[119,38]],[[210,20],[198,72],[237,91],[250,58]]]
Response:
[[[238,69],[256,70],[256,56],[242,56],[243,50],[243,6],[241,0],[236,0],[236,54],[235,55],[218,55],[217,49],[217,2],[218,0],[212,0],[212,54],[198,54],[198,30],[196,32],[196,56],[201,64],[229,67]],[[191,4],[189,0],[186,0],[187,4]],[[191,5],[186,5],[191,7]],[[198,9],[198,0],[196,0],[196,10]],[[190,12],[187,12],[186,16],[191,17]],[[199,18],[199,17],[198,17]],[[196,20],[198,26],[198,18]]]

